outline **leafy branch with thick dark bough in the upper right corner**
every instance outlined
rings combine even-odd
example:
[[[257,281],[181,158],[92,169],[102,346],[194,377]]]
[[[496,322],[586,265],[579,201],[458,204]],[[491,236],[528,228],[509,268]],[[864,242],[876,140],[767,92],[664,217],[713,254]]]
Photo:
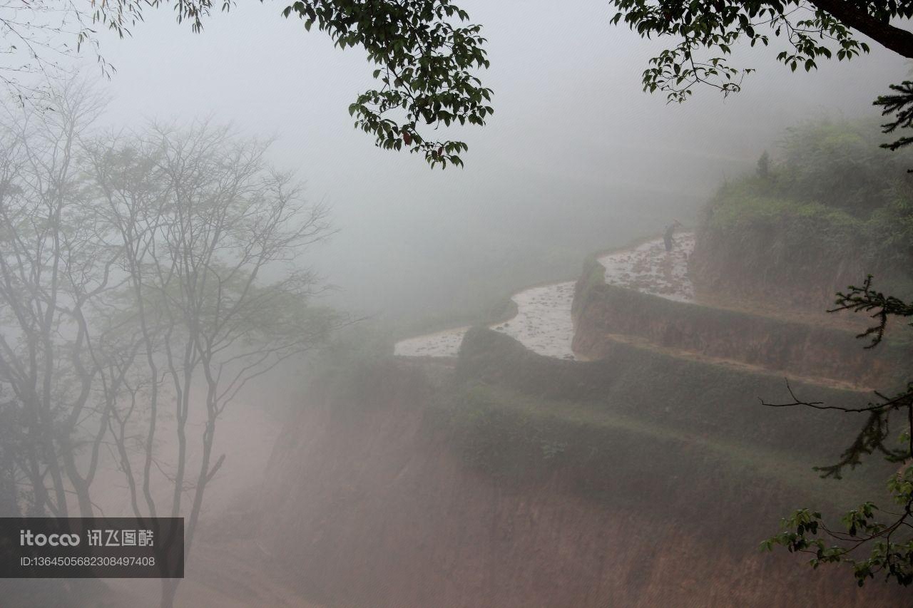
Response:
[[[773,38],[786,43],[777,60],[792,71],[817,67],[821,59],[849,60],[869,47],[856,32],[913,58],[913,33],[890,24],[913,16],[911,2],[729,2],[722,0],[613,0],[622,21],[641,37],[669,37],[670,47],[650,59],[644,89],[666,92],[669,101],[684,101],[696,85],[724,95],[738,92],[753,68],[729,65],[732,47],[748,42],[767,47]]]

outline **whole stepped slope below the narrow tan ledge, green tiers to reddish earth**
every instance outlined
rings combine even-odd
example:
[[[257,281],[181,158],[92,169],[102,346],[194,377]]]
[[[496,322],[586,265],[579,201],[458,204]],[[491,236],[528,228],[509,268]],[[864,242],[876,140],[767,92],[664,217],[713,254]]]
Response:
[[[313,393],[270,463],[262,538],[331,605],[904,606],[758,552],[792,508],[882,496],[889,472],[816,477],[852,421],[750,397],[777,389],[655,351],[564,362],[470,330],[456,372],[389,358]]]

